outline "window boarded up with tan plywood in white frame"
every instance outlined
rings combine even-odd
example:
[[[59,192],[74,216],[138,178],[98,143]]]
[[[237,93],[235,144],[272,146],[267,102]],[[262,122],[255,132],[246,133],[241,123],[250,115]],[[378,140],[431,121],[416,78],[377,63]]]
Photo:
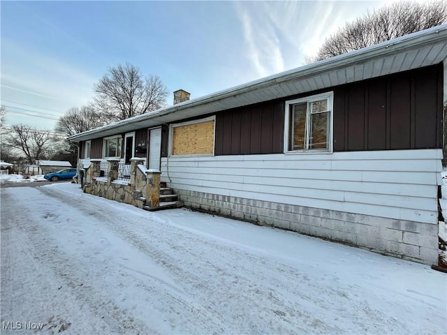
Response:
[[[214,119],[184,126],[173,126],[173,155],[212,155]]]

